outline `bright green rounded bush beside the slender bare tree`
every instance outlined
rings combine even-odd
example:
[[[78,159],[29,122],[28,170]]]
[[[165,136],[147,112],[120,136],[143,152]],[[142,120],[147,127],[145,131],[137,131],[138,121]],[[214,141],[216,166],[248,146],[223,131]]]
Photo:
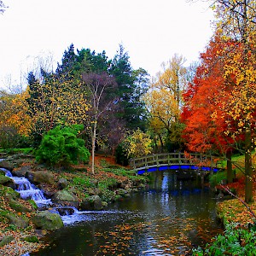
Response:
[[[79,131],[83,129],[83,125],[64,128],[59,125],[48,131],[36,150],[36,160],[49,166],[77,164],[79,161],[88,162],[90,153],[84,147],[84,140],[77,137]]]

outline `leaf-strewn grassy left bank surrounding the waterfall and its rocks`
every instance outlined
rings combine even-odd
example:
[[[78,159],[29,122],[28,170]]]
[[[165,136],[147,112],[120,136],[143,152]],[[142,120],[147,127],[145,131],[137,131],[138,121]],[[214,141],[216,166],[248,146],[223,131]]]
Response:
[[[3,158],[3,156],[2,156]],[[113,158],[96,156],[96,173],[92,175],[89,165],[70,166],[68,170],[64,168],[47,169],[45,166],[38,166],[35,160],[29,156],[15,157],[16,160],[9,161],[8,167],[13,173],[27,172],[50,172],[55,182],[54,183],[39,183],[38,187],[44,189],[44,193],[49,197],[62,190],[66,190],[77,198],[77,205],[80,207],[85,199],[100,198],[100,204],[87,204],[86,207],[94,207],[97,210],[106,207],[113,201],[122,200],[124,197],[129,197],[131,191],[137,191],[147,182],[146,177],[137,177],[135,173],[122,166],[117,166]],[[2,173],[3,177],[3,173]],[[60,180],[62,183],[60,183]],[[43,237],[49,233],[49,230],[38,230],[31,222],[31,218],[36,214],[35,208],[24,200],[15,199],[20,205],[26,206],[26,212],[17,210],[11,207],[9,197],[9,187],[6,183],[0,184],[0,255],[20,256],[24,253],[35,252],[44,244]],[[64,201],[67,205],[70,202]],[[26,226],[15,225],[10,221],[10,214],[15,219],[26,219]],[[2,243],[2,244],[1,244]],[[5,244],[6,243],[6,244]]]

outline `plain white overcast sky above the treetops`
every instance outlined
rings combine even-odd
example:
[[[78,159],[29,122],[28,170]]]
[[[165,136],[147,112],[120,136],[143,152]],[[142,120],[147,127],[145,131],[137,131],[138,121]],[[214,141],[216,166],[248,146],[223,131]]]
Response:
[[[105,50],[113,58],[119,44],[131,67],[152,76],[177,53],[197,61],[212,36],[209,3],[187,0],[3,0],[0,15],[0,85],[20,83],[37,56],[54,63],[70,44]]]

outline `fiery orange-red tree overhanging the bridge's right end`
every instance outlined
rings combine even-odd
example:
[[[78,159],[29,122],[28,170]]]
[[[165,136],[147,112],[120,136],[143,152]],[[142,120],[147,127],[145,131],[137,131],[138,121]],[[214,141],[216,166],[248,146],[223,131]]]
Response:
[[[183,94],[184,106],[182,120],[186,125],[183,136],[190,151],[201,153],[224,154],[228,160],[228,182],[233,181],[230,166],[230,154],[241,137],[231,137],[227,134],[229,126],[227,116],[222,108],[224,59],[226,58],[226,42],[218,35],[212,38],[205,53],[201,54],[201,65],[197,67],[194,80]],[[229,93],[229,88],[225,93]],[[230,131],[236,130],[236,122],[230,122]],[[237,149],[237,148],[236,148]]]

